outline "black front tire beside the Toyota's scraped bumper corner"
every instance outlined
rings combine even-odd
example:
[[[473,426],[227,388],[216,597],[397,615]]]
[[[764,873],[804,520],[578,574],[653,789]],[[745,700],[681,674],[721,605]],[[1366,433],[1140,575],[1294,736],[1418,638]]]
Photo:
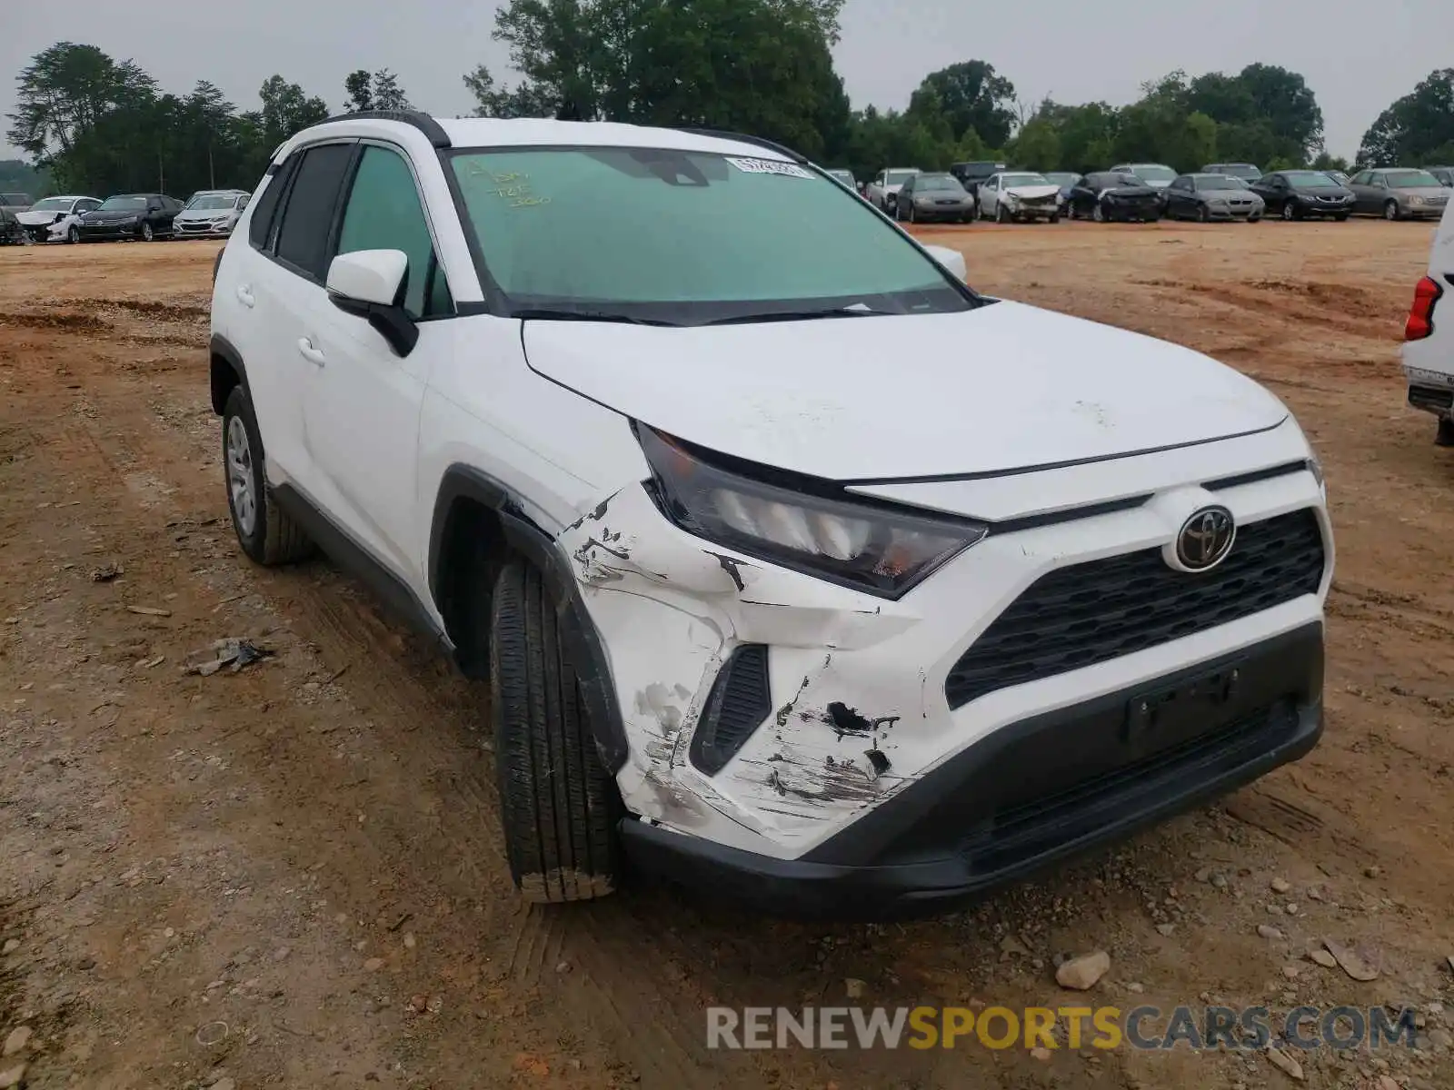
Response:
[[[490,705],[510,878],[528,901],[589,901],[621,875],[615,785],[590,734],[561,615],[534,567],[494,581]]]

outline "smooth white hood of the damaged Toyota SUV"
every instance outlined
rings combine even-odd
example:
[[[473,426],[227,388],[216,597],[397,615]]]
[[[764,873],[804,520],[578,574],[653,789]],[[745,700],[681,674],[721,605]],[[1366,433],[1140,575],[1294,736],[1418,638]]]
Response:
[[[1099,459],[1287,416],[1191,349],[1015,302],[696,328],[526,321],[523,343],[537,372],[625,416],[832,480]]]

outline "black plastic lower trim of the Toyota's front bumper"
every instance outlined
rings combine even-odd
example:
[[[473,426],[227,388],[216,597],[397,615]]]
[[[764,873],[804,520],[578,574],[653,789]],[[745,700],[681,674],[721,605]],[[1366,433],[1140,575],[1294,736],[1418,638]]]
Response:
[[[1243,686],[1223,698],[1226,714],[1210,715],[1202,730],[1179,721],[1165,744],[1149,744],[1143,734],[1114,751],[1146,695],[1205,692],[1207,679]],[[1322,683],[1323,628],[1313,623],[1159,682],[1003,727],[801,859],[726,847],[634,818],[622,823],[622,839],[643,872],[774,914],[949,911],[1304,756],[1322,735]],[[1083,775],[1083,747],[1060,746],[1076,737],[1112,750],[1093,775]],[[1037,756],[1028,778],[1043,788],[1037,796],[1027,796],[1013,775],[1027,747]]]

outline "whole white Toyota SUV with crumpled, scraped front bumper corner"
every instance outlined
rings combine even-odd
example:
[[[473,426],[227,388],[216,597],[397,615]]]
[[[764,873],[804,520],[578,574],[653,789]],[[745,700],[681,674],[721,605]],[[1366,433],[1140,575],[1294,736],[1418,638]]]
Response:
[[[215,272],[237,536],[487,680],[534,900],[929,911],[1307,753],[1287,408],[951,269],[747,137],[324,122]]]

